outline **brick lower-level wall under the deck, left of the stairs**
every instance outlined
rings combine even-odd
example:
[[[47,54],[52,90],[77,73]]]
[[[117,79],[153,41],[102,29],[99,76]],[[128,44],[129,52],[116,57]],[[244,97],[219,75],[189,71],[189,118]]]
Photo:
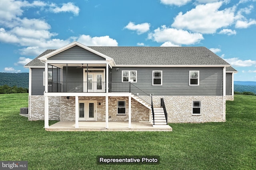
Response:
[[[44,96],[31,96],[32,109],[30,119],[30,96],[28,113],[29,120],[44,120]],[[97,121],[105,121],[106,100],[105,97],[79,97],[78,100],[96,100]],[[126,101],[126,115],[117,115],[117,101]],[[109,97],[108,115],[109,121],[128,121],[128,97]],[[100,105],[99,105],[100,103]],[[132,99],[132,121],[149,121],[149,109]],[[49,120],[75,121],[75,97],[52,97],[49,96]]]

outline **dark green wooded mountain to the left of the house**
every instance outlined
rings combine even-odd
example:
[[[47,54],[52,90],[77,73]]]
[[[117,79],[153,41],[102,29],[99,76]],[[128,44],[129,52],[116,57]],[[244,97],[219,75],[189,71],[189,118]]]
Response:
[[[0,86],[17,86],[22,88],[28,88],[28,72],[22,73],[8,73],[0,72]]]

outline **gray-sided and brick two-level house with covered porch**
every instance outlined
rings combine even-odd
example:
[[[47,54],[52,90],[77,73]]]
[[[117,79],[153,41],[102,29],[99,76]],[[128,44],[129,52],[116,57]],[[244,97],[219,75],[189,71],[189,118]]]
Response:
[[[237,71],[206,47],[87,47],[46,50],[30,63],[29,120],[226,121]],[[153,106],[153,107],[152,107]],[[159,115],[163,118],[159,118]],[[159,120],[160,119],[160,120]]]

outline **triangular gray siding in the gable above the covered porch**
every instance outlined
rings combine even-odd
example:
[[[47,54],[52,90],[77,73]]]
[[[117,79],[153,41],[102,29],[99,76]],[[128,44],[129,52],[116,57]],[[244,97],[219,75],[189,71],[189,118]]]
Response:
[[[79,46],[74,46],[48,58],[48,60],[104,61],[106,59]]]

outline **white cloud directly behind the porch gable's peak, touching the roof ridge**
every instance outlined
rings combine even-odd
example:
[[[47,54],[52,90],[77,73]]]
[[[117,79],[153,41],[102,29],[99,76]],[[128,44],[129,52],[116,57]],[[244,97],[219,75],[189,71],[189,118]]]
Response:
[[[87,46],[118,46],[117,41],[109,36],[90,37],[90,35],[81,35],[77,41]]]

